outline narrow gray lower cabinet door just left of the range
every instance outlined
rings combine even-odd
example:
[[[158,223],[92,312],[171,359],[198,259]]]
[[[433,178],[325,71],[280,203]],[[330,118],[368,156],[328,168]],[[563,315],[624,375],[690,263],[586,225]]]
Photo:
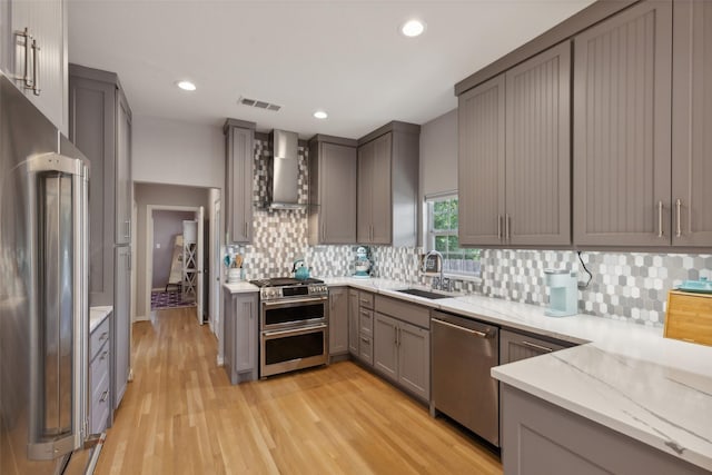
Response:
[[[235,297],[235,372],[257,370],[257,294]]]

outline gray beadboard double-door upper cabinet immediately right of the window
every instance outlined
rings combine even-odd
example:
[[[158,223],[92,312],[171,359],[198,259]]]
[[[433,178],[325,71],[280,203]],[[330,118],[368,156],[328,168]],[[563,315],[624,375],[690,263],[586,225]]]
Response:
[[[459,97],[459,240],[571,244],[571,46]]]

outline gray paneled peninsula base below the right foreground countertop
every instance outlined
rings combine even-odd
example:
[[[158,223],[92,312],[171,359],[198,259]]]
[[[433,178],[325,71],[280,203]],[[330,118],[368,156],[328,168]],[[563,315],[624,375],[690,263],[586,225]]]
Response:
[[[601,424],[502,385],[506,474],[706,474]]]

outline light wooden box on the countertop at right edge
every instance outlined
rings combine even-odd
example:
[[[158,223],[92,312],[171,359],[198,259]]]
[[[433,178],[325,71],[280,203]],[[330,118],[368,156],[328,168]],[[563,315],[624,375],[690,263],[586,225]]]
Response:
[[[712,346],[712,294],[670,290],[664,336]]]

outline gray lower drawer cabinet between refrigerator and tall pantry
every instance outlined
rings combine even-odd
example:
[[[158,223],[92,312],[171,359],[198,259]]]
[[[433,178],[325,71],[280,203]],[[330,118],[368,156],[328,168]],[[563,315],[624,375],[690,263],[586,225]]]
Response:
[[[111,319],[89,335],[89,434],[106,431],[111,415]]]

